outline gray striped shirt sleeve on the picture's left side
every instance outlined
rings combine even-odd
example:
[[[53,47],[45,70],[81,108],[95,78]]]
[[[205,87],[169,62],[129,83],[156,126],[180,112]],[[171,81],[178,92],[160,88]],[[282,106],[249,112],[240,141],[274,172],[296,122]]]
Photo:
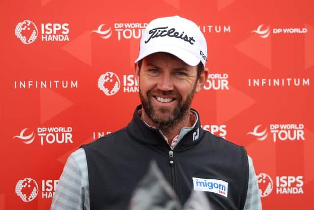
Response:
[[[73,152],[54,192],[50,210],[89,210],[88,170],[84,149]]]

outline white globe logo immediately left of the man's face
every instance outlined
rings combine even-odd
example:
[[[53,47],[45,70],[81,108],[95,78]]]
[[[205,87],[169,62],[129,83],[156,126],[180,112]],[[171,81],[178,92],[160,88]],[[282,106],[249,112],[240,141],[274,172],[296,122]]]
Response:
[[[114,95],[120,89],[120,79],[113,72],[102,74],[98,79],[98,88],[102,90],[105,95]]]

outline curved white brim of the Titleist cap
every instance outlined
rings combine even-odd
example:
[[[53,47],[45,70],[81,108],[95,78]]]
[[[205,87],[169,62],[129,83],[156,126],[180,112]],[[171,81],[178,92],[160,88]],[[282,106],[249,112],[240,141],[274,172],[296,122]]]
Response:
[[[197,66],[201,61],[194,54],[192,54],[188,51],[185,51],[182,48],[179,49],[176,46],[171,46],[171,45],[157,45],[154,47],[150,47],[148,50],[142,52],[138,56],[138,58],[135,60],[135,63],[142,60],[146,56],[151,55],[153,53],[157,53],[157,52],[170,53],[170,54],[178,57],[179,59],[183,60],[183,62],[185,62],[186,64],[188,64],[190,66]]]

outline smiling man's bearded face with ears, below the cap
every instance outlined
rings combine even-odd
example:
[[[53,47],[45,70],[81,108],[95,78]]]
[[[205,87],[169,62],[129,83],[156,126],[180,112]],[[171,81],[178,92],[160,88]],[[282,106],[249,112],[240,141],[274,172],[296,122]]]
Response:
[[[146,115],[159,129],[171,128],[189,115],[195,92],[202,88],[197,67],[168,53],[145,57],[141,69],[135,65],[139,93]],[[204,83],[204,73],[201,82]]]

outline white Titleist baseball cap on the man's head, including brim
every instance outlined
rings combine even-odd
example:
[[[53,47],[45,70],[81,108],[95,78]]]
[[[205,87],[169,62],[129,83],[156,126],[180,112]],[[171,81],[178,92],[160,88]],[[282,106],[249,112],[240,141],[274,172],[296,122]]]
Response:
[[[207,60],[206,40],[199,27],[188,19],[172,16],[152,20],[141,39],[139,56],[166,52],[175,55],[190,66],[197,66]]]

